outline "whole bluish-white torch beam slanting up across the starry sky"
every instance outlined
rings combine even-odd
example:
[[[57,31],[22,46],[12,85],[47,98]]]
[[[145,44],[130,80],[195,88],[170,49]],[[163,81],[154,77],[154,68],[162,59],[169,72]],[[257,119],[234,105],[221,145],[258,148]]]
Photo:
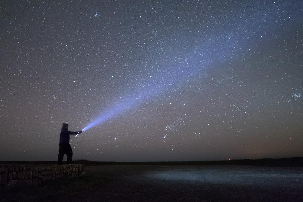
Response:
[[[274,10],[274,6],[270,9]],[[264,10],[255,11],[255,18],[251,18],[253,19],[251,21],[247,21],[244,17],[235,20],[231,23],[234,25],[232,28],[223,28],[222,32],[212,33],[210,37],[205,37],[201,43],[189,49],[187,54],[179,57],[173,52],[168,53],[167,58],[170,60],[163,61],[160,65],[161,69],[146,74],[147,76],[141,78],[141,82],[138,82],[128,94],[93,119],[82,131],[136,108],[169,89],[177,89],[197,78],[203,78],[206,70],[218,64],[238,60],[250,50],[249,48],[256,47],[258,43],[264,43],[264,40],[275,36],[274,32],[270,33],[268,30],[279,29],[281,25],[278,21],[259,17],[263,12]],[[277,16],[271,16],[271,19],[276,19],[275,17],[282,14],[275,15]],[[242,20],[241,23],[239,23],[240,20]],[[266,36],[260,36],[262,31],[267,32]]]

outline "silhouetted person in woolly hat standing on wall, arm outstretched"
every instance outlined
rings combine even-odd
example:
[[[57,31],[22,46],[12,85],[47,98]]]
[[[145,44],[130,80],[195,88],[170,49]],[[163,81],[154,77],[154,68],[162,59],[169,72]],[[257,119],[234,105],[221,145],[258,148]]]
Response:
[[[67,155],[67,164],[72,164],[73,151],[72,147],[69,144],[69,135],[75,135],[79,132],[68,131],[68,124],[63,124],[60,133],[60,142],[59,142],[59,154],[58,154],[58,165],[62,165],[64,154]]]

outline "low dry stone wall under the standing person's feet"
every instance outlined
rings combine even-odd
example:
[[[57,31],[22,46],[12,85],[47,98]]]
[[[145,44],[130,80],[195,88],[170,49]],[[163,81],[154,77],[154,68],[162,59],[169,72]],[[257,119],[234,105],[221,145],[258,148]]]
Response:
[[[7,166],[0,167],[0,188],[15,184],[41,184],[46,180],[62,177],[81,177],[85,175],[84,164],[53,165],[53,166]]]

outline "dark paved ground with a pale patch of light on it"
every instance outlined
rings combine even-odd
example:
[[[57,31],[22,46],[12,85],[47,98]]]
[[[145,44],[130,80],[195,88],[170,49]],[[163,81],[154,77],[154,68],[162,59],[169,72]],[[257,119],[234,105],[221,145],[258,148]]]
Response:
[[[60,201],[303,201],[303,168],[87,166],[112,180]]]

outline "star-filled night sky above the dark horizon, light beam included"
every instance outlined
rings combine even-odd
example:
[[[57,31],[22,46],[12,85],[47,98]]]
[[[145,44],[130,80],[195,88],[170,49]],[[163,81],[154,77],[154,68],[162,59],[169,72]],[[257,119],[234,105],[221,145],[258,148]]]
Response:
[[[0,161],[302,156],[302,1],[1,1]],[[66,160],[66,156],[65,159]]]

